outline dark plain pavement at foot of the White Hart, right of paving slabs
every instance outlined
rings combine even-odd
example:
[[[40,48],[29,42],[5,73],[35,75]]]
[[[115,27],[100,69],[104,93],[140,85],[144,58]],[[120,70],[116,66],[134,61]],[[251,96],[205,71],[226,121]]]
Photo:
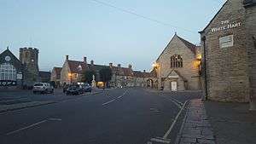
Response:
[[[218,144],[255,144],[256,112],[248,103],[204,101]]]

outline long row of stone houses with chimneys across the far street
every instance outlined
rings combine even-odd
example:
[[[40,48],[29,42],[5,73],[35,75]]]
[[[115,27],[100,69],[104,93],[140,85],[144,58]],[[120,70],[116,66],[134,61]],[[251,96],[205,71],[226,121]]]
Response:
[[[110,68],[112,71],[112,78],[109,82],[111,87],[125,87],[125,86],[141,86],[156,88],[156,72],[139,72],[133,71],[132,66],[122,67],[113,66],[113,63],[109,63],[108,66],[96,65],[94,60],[87,62],[87,58],[84,60],[69,60],[69,56],[66,55],[66,60],[61,67],[54,67],[51,72],[51,81],[54,81],[57,86],[63,86],[65,84],[80,83],[83,82],[84,72],[93,71],[96,73],[95,80],[97,86],[102,86],[100,79],[100,70],[103,68]]]

